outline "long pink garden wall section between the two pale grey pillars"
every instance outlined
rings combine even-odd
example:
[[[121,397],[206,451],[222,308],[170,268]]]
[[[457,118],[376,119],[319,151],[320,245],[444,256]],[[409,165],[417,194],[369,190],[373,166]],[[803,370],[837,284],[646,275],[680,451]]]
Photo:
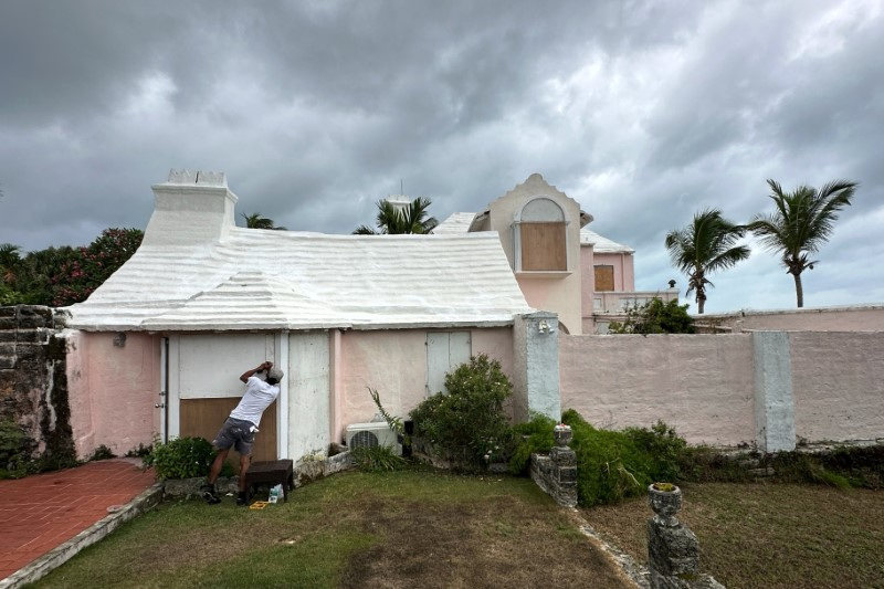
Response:
[[[594,425],[657,420],[691,443],[755,440],[749,334],[559,337],[561,409]]]

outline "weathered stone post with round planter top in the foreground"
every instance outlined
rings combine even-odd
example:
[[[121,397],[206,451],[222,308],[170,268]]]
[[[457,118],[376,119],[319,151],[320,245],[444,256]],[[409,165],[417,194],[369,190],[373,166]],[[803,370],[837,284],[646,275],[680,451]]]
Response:
[[[654,483],[648,487],[654,517],[648,520],[648,568],[652,589],[722,588],[699,572],[699,543],[675,514],[682,507],[682,490]]]

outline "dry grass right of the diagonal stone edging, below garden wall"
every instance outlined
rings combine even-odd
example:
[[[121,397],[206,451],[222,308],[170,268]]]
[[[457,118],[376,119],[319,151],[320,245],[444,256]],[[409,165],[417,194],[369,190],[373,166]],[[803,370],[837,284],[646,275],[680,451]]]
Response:
[[[794,484],[682,486],[678,518],[701,566],[730,589],[884,588],[884,491]],[[646,497],[583,509],[612,544],[646,564]]]

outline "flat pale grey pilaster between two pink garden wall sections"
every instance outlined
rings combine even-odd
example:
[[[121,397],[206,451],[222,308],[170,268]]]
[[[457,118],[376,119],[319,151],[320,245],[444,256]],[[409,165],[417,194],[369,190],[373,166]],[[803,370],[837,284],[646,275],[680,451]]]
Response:
[[[755,332],[755,429],[761,452],[794,450],[794,400],[789,334]]]

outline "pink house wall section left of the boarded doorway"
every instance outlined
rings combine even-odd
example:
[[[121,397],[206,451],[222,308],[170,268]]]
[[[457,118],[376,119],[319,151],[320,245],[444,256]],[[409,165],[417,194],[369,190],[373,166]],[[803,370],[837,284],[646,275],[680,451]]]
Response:
[[[116,454],[148,445],[159,431],[158,336],[126,334],[124,347],[112,333],[76,332],[69,337],[67,390],[78,457],[104,444]]]

